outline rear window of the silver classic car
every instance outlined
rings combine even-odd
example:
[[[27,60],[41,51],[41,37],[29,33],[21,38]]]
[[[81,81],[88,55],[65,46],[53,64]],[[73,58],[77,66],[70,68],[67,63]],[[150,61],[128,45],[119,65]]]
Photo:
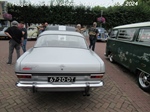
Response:
[[[88,48],[84,38],[72,35],[42,35],[34,47]]]

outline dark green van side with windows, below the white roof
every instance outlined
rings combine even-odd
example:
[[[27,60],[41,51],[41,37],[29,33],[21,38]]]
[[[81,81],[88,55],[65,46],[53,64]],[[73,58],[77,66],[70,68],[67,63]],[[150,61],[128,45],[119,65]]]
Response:
[[[133,72],[139,69],[150,73],[149,32],[150,27],[114,30],[107,41],[106,56],[113,54],[114,61]]]

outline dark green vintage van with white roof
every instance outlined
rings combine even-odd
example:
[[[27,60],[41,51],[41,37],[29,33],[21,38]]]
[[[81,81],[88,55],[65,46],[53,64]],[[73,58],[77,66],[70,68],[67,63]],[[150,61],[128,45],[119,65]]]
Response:
[[[105,55],[134,72],[140,88],[150,91],[150,22],[114,27]]]

